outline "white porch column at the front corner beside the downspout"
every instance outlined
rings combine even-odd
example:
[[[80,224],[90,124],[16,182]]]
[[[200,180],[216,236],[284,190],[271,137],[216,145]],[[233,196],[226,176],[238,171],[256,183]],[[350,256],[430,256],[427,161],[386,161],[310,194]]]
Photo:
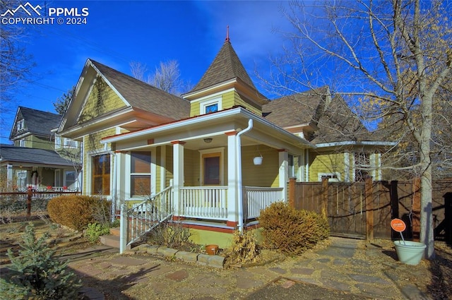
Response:
[[[227,225],[237,227],[239,224],[238,186],[237,186],[237,131],[225,133],[227,135]]]

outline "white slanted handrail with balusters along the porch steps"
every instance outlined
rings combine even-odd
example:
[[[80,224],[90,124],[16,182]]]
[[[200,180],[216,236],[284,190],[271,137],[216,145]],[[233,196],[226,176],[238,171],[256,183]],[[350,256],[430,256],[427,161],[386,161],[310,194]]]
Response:
[[[121,205],[119,252],[172,216],[172,186],[155,196],[127,208]]]

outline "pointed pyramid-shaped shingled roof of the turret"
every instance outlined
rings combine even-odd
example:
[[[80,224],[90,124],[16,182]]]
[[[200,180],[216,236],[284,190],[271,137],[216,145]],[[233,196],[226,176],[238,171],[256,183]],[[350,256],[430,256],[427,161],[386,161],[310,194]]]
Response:
[[[196,92],[197,90],[202,90],[218,83],[223,83],[227,80],[233,78],[239,78],[244,83],[249,85],[251,88],[256,90],[251,78],[249,78],[248,73],[232,48],[232,44],[226,40],[222,45],[220,52],[213,60],[212,64],[208,67],[206,73],[204,73],[201,80],[190,92]]]

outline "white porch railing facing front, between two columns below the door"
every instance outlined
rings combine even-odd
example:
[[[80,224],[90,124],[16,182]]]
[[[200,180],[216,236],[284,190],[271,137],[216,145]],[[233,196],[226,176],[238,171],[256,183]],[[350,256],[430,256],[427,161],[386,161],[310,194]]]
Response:
[[[180,216],[227,220],[227,186],[184,186],[180,195]]]

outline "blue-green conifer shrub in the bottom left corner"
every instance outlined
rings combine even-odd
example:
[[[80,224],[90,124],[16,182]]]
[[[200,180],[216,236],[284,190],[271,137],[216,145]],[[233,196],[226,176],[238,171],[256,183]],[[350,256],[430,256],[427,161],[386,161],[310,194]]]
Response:
[[[9,275],[0,278],[2,299],[77,299],[81,281],[67,272],[67,263],[54,257],[45,240],[37,239],[30,223],[25,227],[17,257],[8,249]]]

